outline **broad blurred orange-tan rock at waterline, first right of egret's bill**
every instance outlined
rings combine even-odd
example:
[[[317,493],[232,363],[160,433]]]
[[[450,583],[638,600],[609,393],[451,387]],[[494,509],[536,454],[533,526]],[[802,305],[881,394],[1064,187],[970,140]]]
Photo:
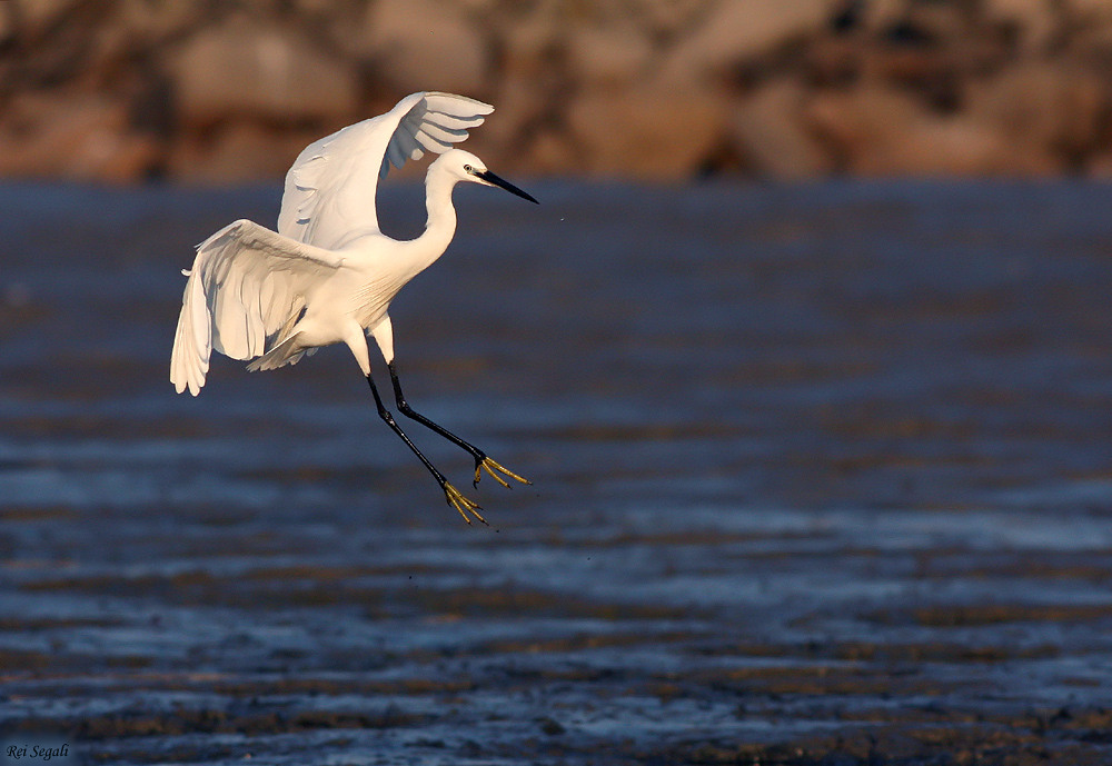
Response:
[[[649,83],[592,90],[568,109],[576,167],[604,176],[693,176],[725,136],[725,100],[701,89]]]

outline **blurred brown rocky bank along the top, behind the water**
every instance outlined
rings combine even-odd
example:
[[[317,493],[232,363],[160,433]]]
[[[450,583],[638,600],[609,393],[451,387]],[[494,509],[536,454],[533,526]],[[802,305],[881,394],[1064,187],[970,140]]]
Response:
[[[237,182],[414,90],[515,175],[1112,175],[1112,0],[0,0],[0,177]]]

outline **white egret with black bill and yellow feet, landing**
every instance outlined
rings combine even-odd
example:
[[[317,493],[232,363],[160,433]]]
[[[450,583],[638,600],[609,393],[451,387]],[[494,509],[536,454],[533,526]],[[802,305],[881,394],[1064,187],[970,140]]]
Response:
[[[464,497],[429,462],[386,409],[370,371],[369,334],[378,344],[403,415],[466,449],[475,480],[486,469],[529,484],[447,429],[415,412],[401,392],[394,364],[390,301],[435,262],[456,231],[451,190],[460,181],[496,186],[536,202],[453,148],[483,123],[494,107],[450,93],[413,93],[390,111],[310,143],[286,175],[278,231],[249,220],[220,229],[197,247],[186,281],[170,355],[170,381],[193,396],[205,385],[212,349],[254,359],[249,370],[292,365],[321,346],[345,342],[370,385],[378,415],[420,458],[447,501],[470,524],[486,524],[479,506]],[[424,150],[440,153],[425,178],[428,222],[416,239],[399,241],[378,227],[378,179]]]

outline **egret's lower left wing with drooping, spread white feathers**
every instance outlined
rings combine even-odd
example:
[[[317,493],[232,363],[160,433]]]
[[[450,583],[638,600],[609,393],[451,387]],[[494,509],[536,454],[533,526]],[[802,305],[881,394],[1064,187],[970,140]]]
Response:
[[[342,258],[295,242],[252,221],[238,220],[197,246],[186,273],[170,381],[193,396],[205,385],[212,349],[250,359],[288,331],[305,296],[336,272]]]

